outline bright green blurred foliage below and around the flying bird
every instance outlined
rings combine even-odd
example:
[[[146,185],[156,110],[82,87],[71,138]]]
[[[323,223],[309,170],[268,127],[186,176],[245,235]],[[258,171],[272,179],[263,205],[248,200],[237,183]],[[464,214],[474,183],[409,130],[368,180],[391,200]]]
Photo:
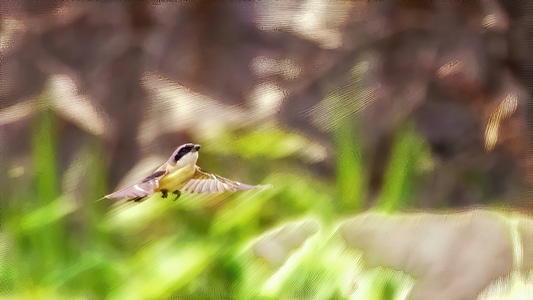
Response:
[[[226,157],[239,165],[232,172],[272,188],[112,204],[95,202],[108,190],[98,140],[87,142],[65,174],[56,174],[55,121],[48,110],[34,116],[32,160],[39,171],[28,182],[28,201],[16,193],[6,201],[2,297],[345,299],[366,293],[364,299],[394,299],[402,286],[377,271],[365,278],[381,281],[361,286],[360,257],[335,233],[336,222],[364,201],[356,133],[338,133],[337,184],[286,160],[312,160],[324,152],[319,145],[267,126],[205,141],[199,163],[228,175],[224,164],[209,163]],[[403,205],[428,159],[409,126],[397,136],[379,203],[387,210]],[[81,198],[65,185],[79,180],[85,181]]]

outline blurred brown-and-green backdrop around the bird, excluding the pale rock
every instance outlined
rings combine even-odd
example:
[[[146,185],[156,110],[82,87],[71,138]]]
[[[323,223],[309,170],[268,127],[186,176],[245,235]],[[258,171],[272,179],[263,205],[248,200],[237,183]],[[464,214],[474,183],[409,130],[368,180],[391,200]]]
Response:
[[[0,296],[403,297],[405,276],[349,280],[359,258],[334,224],[533,207],[532,15],[524,1],[1,3]],[[186,142],[203,169],[274,187],[96,201]]]

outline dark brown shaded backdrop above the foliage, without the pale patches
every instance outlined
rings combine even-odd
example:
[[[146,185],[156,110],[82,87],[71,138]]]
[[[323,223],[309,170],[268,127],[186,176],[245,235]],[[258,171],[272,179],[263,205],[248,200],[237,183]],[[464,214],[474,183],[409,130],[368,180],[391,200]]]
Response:
[[[147,92],[140,84],[145,72],[245,108],[251,86],[274,82],[286,90],[278,122],[331,146],[331,132],[314,126],[308,112],[330,93],[354,89],[353,66],[372,57],[364,85],[379,87],[376,99],[362,112],[346,105],[347,111],[354,111],[353,126],[364,137],[360,142],[364,157],[370,159],[366,175],[371,195],[380,191],[395,132],[413,122],[438,162],[424,181],[419,205],[440,206],[446,199],[446,206],[468,206],[506,199],[530,206],[520,196],[533,182],[533,56],[528,50],[533,43],[532,4],[357,3],[347,8],[339,28],[343,43],[335,49],[295,32],[261,30],[256,21],[268,6],[276,4],[2,4],[4,18],[15,18],[26,27],[2,52],[0,109],[38,95],[50,74],[76,78],[80,92],[109,118],[104,139],[109,185],[115,186],[141,155],[136,136],[148,109]],[[485,19],[491,14],[495,25],[483,25],[492,20]],[[279,74],[257,78],[250,70],[257,56],[290,59],[302,73],[295,79]],[[439,76],[440,68],[452,60],[460,60],[462,69]],[[502,121],[498,143],[487,152],[487,118],[502,95],[511,92],[519,95],[516,112]],[[362,126],[355,122],[359,117]],[[58,127],[68,133],[72,125],[65,122],[58,120]],[[21,149],[29,151],[18,141],[18,132],[5,130],[4,142],[11,145],[6,148],[8,159]],[[89,138],[85,134],[73,136]],[[168,136],[159,141],[169,143]],[[61,159],[70,157],[68,144],[70,140],[61,145],[67,149]],[[312,169],[332,177],[334,159]]]

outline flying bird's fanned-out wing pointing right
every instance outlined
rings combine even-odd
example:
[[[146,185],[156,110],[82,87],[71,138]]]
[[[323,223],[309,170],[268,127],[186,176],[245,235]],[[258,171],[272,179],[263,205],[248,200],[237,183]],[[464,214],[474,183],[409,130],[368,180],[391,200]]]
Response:
[[[263,188],[261,185],[248,185],[202,171],[199,167],[193,178],[181,189],[186,193],[221,193],[226,191],[251,190]]]

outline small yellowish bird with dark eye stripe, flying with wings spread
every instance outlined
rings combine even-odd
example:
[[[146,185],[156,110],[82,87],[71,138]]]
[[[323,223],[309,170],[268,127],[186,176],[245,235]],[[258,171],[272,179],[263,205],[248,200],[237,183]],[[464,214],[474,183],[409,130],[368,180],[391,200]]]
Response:
[[[200,145],[184,144],[176,148],[170,158],[140,183],[128,186],[104,196],[107,199],[126,199],[139,202],[156,192],[167,198],[171,191],[177,200],[181,192],[220,193],[225,191],[264,188],[262,185],[247,185],[202,171],[196,165]]]

